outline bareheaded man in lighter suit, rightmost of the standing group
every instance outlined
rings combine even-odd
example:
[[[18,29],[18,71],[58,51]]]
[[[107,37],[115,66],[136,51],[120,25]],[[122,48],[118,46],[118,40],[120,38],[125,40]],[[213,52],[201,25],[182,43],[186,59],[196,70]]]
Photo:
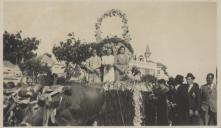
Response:
[[[201,87],[201,110],[204,125],[210,125],[212,121],[214,125],[217,123],[217,88],[213,80],[214,74],[208,73],[207,83]]]

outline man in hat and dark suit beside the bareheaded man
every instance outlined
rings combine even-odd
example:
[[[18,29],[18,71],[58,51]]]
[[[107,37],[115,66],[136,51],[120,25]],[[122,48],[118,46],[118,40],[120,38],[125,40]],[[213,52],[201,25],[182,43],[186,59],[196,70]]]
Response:
[[[194,75],[188,73],[186,76],[187,84],[179,88],[180,113],[182,113],[182,122],[180,125],[198,125],[200,110],[200,89],[197,83],[194,83]]]

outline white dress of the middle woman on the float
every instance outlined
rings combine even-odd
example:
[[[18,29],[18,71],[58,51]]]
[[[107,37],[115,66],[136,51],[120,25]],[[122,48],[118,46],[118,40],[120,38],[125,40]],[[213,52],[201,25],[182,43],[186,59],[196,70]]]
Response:
[[[102,57],[102,65],[111,65],[111,67],[104,67],[104,75],[103,75],[103,82],[111,82],[114,81],[114,56],[109,55],[109,56],[103,56]]]

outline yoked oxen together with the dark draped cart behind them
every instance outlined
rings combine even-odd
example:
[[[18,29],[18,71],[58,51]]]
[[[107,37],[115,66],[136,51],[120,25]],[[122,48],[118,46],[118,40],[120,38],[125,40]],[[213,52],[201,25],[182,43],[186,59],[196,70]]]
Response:
[[[20,122],[13,123],[13,126],[21,124],[34,126],[154,125],[154,107],[150,103],[153,93],[151,84],[129,81],[102,83],[99,86],[72,83],[51,87],[42,86],[38,91],[34,102],[26,100],[27,102],[23,103],[11,98],[16,101],[16,105],[19,106],[21,103],[28,107],[28,109],[22,108],[27,113],[24,117],[19,117]],[[13,96],[15,95],[17,94],[13,93]],[[29,96],[33,95],[29,94]],[[46,103],[44,105],[42,104],[43,100]],[[11,105],[15,104],[11,103]],[[12,107],[8,106],[8,108],[6,110],[16,112]],[[7,116],[4,115],[4,124],[10,126],[12,124],[8,123],[10,120],[7,120]],[[13,117],[13,119],[15,118]],[[30,119],[32,120],[30,121]],[[38,121],[34,119],[38,119]]]

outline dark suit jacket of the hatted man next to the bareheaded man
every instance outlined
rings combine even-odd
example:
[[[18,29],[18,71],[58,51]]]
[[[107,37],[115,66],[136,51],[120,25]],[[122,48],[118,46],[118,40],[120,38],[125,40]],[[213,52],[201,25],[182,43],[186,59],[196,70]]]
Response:
[[[197,83],[194,83],[188,92],[189,85],[183,84],[178,89],[180,109],[182,111],[200,110],[200,89]]]

